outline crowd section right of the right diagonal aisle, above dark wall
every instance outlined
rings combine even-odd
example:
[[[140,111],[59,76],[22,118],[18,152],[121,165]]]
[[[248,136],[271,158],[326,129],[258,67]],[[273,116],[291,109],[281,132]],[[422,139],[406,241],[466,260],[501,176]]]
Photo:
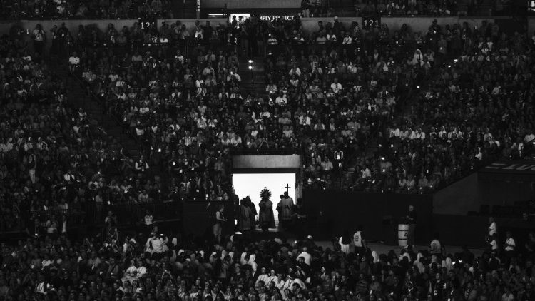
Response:
[[[507,36],[494,24],[453,27],[449,39],[446,51],[460,55],[432,73],[407,118],[384,132],[387,168],[379,173],[393,179],[382,189],[426,191],[532,148],[535,40]]]

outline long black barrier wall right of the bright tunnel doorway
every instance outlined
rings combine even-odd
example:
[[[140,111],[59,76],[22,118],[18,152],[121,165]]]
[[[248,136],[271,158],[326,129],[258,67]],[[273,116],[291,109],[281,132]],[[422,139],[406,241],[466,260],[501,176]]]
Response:
[[[409,205],[417,212],[416,243],[427,244],[432,236],[432,195],[302,190],[307,208],[305,230],[317,238],[332,238],[344,230],[353,233],[364,226],[367,240],[397,243],[397,224]]]

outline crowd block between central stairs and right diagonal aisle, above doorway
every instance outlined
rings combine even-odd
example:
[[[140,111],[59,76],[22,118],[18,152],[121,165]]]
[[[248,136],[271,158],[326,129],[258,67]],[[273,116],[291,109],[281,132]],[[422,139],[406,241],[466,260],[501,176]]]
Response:
[[[278,136],[302,141],[304,185],[349,188],[338,179],[340,168],[367,152],[382,123],[394,117],[397,102],[423,76],[423,66],[407,58],[427,43],[414,41],[406,24],[391,35],[387,26],[374,31],[357,22],[320,21],[306,39],[297,29],[298,24],[270,33],[267,103],[257,106],[267,109],[264,123],[278,129]]]

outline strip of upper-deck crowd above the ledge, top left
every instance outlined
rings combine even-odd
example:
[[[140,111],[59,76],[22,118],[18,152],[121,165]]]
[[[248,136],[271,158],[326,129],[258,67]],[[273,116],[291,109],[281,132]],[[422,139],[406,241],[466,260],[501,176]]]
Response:
[[[1,19],[154,19],[173,18],[170,0],[0,1]]]

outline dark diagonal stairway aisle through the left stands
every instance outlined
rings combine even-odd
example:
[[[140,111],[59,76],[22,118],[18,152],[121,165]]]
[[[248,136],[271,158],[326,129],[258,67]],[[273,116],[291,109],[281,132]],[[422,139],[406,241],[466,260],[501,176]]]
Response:
[[[93,119],[99,126],[103,128],[108,136],[116,138],[126,151],[136,160],[141,153],[141,148],[137,141],[128,133],[123,133],[121,125],[116,121],[113,116],[106,113],[102,103],[99,103],[96,99],[88,96],[84,88],[81,86],[81,82],[73,76],[70,76],[68,69],[65,65],[59,63],[50,63],[49,68],[52,73],[63,78],[68,90],[67,99],[73,106],[73,108],[83,108],[88,114],[90,119]]]

